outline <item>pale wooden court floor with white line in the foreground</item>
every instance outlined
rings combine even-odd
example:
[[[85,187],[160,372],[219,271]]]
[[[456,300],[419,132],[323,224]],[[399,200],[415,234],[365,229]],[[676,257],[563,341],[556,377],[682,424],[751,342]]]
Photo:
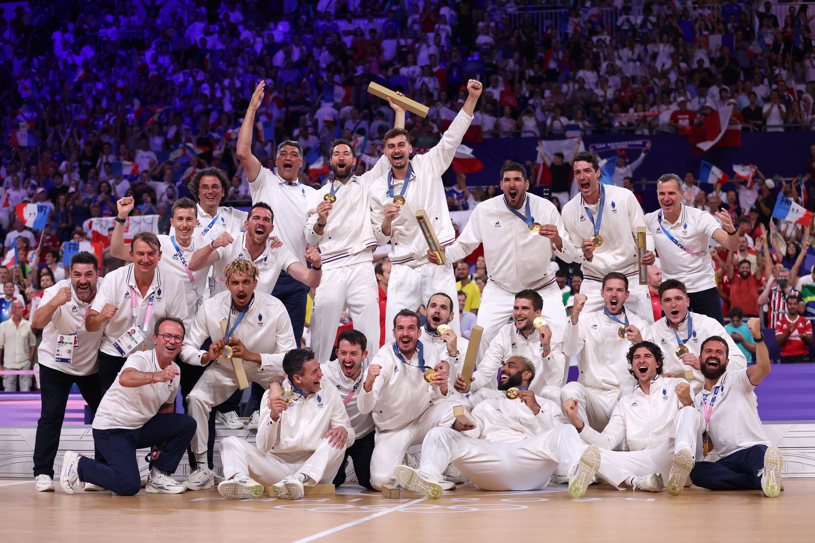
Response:
[[[619,492],[593,485],[581,500],[566,485],[484,493],[471,485],[438,500],[388,500],[358,486],[301,501],[223,500],[215,489],[119,497],[37,493],[0,480],[2,541],[813,541],[815,479],[786,479],[781,496]]]

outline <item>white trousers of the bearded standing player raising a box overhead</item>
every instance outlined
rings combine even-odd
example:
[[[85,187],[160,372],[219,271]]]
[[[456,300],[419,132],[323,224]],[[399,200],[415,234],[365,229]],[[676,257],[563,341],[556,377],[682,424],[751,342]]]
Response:
[[[379,291],[373,265],[357,265],[327,269],[314,295],[311,310],[311,348],[317,360],[331,358],[342,310],[348,306],[354,329],[368,338],[368,359],[379,350]],[[390,290],[388,291],[390,300]]]

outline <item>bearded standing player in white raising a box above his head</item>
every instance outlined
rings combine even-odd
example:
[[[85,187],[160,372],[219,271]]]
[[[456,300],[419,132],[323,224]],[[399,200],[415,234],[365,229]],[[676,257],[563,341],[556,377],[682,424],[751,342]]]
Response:
[[[401,94],[401,93],[399,93]],[[405,110],[388,99],[396,112],[394,129],[404,127]],[[373,251],[388,243],[381,225],[371,217],[371,185],[388,169],[385,155],[372,169],[354,175],[354,144],[336,139],[329,153],[333,179],[309,195],[306,204],[306,243],[319,247],[325,270],[311,309],[311,348],[317,360],[328,361],[337,338],[343,309],[348,308],[356,330],[368,338],[371,356],[379,350],[379,302]]]

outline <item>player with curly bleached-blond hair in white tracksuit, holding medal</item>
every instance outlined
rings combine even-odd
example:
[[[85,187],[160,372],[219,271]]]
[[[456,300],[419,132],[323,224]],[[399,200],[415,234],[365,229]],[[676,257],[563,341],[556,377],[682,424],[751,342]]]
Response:
[[[273,375],[283,373],[280,365],[284,353],[297,347],[284,305],[274,296],[256,290],[258,267],[246,260],[231,261],[224,274],[228,290],[204,300],[181,348],[181,360],[192,366],[214,361],[187,395],[188,413],[198,423],[190,444],[198,469],[187,478],[187,490],[213,486],[215,474],[205,467],[209,413],[238,389],[231,360],[221,357],[227,347],[222,321],[226,321],[231,356],[240,358],[246,378],[263,388],[269,387]],[[212,339],[209,351],[201,351],[207,338]]]

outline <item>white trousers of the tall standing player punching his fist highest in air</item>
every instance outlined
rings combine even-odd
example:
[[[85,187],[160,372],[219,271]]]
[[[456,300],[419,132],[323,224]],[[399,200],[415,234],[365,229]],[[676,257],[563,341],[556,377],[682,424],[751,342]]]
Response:
[[[392,336],[391,331],[394,329],[396,313],[399,313],[402,309],[417,311],[420,305],[427,305],[430,296],[437,292],[443,292],[453,300],[453,320],[450,322],[450,327],[456,332],[456,335],[461,335],[458,296],[456,295],[456,276],[453,274],[452,263],[447,262],[443,266],[425,264],[415,268],[405,264],[394,265],[390,269],[390,281],[388,282],[388,304],[385,308],[385,343],[390,341]],[[481,309],[478,309],[478,311],[480,312]]]

